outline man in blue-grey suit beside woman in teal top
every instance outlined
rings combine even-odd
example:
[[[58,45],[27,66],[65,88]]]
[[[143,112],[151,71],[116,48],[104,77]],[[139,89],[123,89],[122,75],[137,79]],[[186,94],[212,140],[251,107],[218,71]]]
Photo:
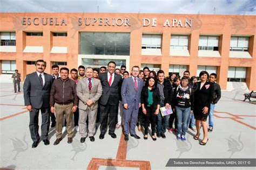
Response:
[[[126,141],[129,140],[129,132],[131,132],[132,137],[140,139],[135,132],[135,126],[140,107],[140,95],[142,93],[143,80],[138,77],[138,66],[133,66],[131,73],[131,77],[124,79],[121,89],[124,105],[124,139]],[[131,124],[129,122],[131,122]]]

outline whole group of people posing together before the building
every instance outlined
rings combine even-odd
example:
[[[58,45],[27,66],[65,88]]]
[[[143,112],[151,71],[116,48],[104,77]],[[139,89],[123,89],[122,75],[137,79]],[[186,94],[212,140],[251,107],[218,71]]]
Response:
[[[137,125],[138,131],[144,129],[145,140],[149,130],[153,140],[166,138],[167,126],[170,133],[177,133],[178,140],[186,140],[188,128],[197,131],[194,139],[198,140],[201,126],[204,137],[200,145],[206,145],[207,132],[213,131],[213,109],[221,96],[215,73],[209,75],[202,71],[201,81],[197,82],[196,76],[190,78],[188,70],[181,78],[176,74],[165,77],[163,70],[156,73],[148,67],[140,70],[133,66],[129,74],[126,66],[117,69],[114,61],[99,70],[84,66],[79,66],[78,70],[59,69],[53,65],[52,75],[44,73],[44,60],[37,60],[35,65],[36,72],[26,75],[23,86],[25,105],[30,111],[32,147],[38,146],[41,137],[45,145],[50,144],[50,122],[51,127],[56,126],[53,145],[62,140],[63,128],[68,133],[68,143],[72,143],[73,117],[81,143],[87,136],[95,141],[97,122],[100,123],[99,139],[104,139],[107,132],[117,138],[115,130],[121,126],[124,140],[129,140],[129,134],[140,139],[135,131]],[[172,109],[173,113],[163,116],[160,108],[164,107]],[[42,114],[41,137],[39,111]],[[206,122],[208,116],[209,124]]]

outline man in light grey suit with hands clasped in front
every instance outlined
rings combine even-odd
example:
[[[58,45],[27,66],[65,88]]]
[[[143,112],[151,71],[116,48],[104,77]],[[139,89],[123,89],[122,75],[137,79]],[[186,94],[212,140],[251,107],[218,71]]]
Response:
[[[80,142],[84,143],[87,137],[86,120],[88,116],[89,138],[95,141],[94,133],[96,128],[96,117],[98,109],[98,100],[102,96],[102,84],[100,80],[93,78],[92,67],[85,69],[85,78],[77,83],[77,96],[79,97],[79,132],[81,134]]]

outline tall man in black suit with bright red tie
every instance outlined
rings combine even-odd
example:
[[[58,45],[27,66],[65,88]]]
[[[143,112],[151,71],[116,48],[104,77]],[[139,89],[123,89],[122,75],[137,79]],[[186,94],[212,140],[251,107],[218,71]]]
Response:
[[[122,76],[114,73],[116,63],[110,61],[107,64],[107,72],[99,74],[99,80],[102,83],[102,97],[99,102],[100,110],[100,135],[103,139],[107,131],[107,118],[109,117],[109,135],[116,138],[114,130],[116,129],[118,105],[120,100],[120,90],[122,86]]]

